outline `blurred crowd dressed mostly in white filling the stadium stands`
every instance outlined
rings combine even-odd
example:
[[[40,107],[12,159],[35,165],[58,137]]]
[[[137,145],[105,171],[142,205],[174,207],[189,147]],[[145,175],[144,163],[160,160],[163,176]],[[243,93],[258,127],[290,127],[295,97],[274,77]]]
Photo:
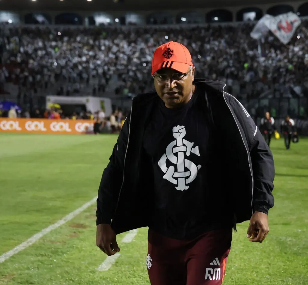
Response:
[[[19,86],[19,97],[44,90],[71,96],[84,87],[95,96],[105,92],[112,78],[116,80],[109,88],[115,94],[142,93],[152,88],[155,48],[173,40],[191,51],[197,77],[225,81],[239,98],[255,98],[267,90],[281,94],[306,83],[308,35],[299,28],[285,46],[268,34],[260,57],[257,41],[250,37],[253,26],[2,26],[8,58],[0,76]]]

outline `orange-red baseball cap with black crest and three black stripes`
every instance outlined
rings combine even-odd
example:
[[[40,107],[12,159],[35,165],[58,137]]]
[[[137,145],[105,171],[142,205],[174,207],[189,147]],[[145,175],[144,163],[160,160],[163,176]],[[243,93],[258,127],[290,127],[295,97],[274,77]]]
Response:
[[[178,42],[167,42],[159,46],[152,60],[152,75],[161,68],[173,68],[186,73],[193,66],[192,57],[188,49]]]

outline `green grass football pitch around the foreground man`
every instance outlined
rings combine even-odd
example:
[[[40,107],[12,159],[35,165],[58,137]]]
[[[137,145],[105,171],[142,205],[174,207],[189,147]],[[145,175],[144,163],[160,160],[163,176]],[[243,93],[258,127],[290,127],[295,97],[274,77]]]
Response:
[[[97,195],[117,136],[0,135],[0,255]],[[286,151],[273,141],[275,207],[262,244],[238,225],[224,285],[308,284],[308,140]],[[138,229],[107,271],[95,245],[95,204],[0,263],[0,284],[150,284],[147,229]]]

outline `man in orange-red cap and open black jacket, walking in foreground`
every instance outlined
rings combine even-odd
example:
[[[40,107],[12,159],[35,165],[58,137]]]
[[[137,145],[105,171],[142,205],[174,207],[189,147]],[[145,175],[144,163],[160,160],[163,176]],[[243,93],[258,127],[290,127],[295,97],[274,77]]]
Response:
[[[232,227],[269,232],[270,149],[225,85],[194,73],[180,43],[156,49],[156,92],[133,98],[99,185],[96,245],[113,255],[116,234],[148,226],[152,285],[222,284]]]

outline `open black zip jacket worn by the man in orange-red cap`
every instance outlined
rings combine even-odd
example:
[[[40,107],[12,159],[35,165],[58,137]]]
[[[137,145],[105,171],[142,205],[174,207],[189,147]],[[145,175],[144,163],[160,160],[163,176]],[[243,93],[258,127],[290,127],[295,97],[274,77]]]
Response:
[[[241,103],[224,92],[225,84],[209,80],[195,80],[194,84],[204,92],[200,102],[221,135],[216,160],[221,165],[221,180],[226,181],[235,223],[250,220],[256,210],[268,213],[274,206],[274,161],[260,131]],[[152,107],[158,100],[161,99],[156,93],[132,99],[131,112],[103,172],[96,224],[111,223],[116,234],[148,226],[153,177],[142,143]]]

